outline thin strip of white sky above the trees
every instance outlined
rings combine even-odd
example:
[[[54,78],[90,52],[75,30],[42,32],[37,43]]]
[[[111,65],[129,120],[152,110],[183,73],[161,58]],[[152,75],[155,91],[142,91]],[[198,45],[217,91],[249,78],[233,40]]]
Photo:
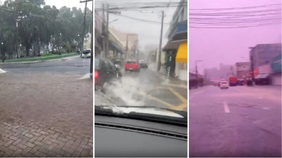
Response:
[[[68,8],[77,7],[82,10],[85,8],[85,3],[80,3],[80,0],[45,0],[45,4],[49,6],[56,6],[58,9],[63,6]],[[92,2],[88,2],[87,6],[90,10],[92,10]]]

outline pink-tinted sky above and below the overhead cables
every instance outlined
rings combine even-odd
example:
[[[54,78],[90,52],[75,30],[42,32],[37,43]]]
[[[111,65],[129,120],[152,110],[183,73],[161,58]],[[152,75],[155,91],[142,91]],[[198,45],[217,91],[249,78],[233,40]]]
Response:
[[[281,0],[190,0],[189,9],[214,9],[280,4]],[[231,65],[249,60],[248,47],[257,44],[281,43],[281,24],[238,29],[189,28],[189,70],[198,66],[219,67],[220,63]],[[241,58],[241,57],[245,57]]]

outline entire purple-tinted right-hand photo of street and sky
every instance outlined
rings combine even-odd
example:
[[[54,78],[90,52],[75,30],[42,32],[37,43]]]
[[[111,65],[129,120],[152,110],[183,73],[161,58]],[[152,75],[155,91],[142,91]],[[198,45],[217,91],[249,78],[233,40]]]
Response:
[[[202,2],[189,1],[189,156],[281,157],[281,1]]]

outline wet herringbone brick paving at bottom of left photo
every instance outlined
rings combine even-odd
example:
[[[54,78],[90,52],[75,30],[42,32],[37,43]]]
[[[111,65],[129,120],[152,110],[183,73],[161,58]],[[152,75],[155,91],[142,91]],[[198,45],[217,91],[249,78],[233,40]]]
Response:
[[[93,157],[93,136],[1,115],[0,157]]]

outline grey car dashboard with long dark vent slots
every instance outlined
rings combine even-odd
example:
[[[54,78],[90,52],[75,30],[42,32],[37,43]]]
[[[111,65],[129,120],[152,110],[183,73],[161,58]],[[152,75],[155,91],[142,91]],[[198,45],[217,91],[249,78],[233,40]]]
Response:
[[[95,115],[95,157],[187,157],[187,127]]]

